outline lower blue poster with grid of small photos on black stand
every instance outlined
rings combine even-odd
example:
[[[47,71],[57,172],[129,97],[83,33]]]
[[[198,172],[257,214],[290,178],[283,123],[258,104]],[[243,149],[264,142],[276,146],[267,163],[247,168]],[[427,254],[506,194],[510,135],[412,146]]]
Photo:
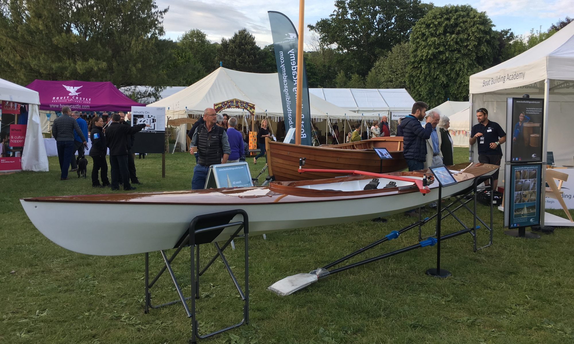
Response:
[[[508,173],[510,193],[505,202],[505,224],[509,228],[540,225],[542,166],[510,165]]]

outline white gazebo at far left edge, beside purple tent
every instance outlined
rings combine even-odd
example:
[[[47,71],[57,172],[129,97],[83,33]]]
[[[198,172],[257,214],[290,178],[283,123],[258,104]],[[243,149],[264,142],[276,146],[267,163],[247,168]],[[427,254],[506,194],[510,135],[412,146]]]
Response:
[[[22,170],[48,171],[48,157],[46,157],[46,148],[42,140],[42,128],[38,112],[38,105],[40,105],[38,92],[0,79],[0,100],[29,104],[28,126],[26,127],[26,139],[21,159]]]

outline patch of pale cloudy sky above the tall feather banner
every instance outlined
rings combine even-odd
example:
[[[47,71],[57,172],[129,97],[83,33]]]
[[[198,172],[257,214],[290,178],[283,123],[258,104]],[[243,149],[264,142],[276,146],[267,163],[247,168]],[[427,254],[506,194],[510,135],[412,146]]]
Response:
[[[291,7],[277,5],[270,1],[199,1],[199,0],[158,0],[160,9],[169,6],[164,17],[166,36],[176,40],[184,32],[200,29],[213,42],[221,42],[222,37],[229,38],[243,28],[255,36],[261,47],[272,44],[269,27],[268,10],[277,10],[287,15],[297,27],[298,2],[291,1]],[[305,3],[305,44],[309,43],[307,24],[315,24],[320,18],[326,18],[335,9],[333,3],[325,5],[324,1],[308,0]]]

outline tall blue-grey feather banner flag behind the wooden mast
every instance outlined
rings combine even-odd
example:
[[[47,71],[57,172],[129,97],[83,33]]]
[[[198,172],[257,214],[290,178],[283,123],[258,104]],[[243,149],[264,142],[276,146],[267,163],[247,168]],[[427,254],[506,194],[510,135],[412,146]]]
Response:
[[[281,90],[281,103],[283,104],[283,117],[285,131],[295,127],[296,123],[296,95],[297,95],[297,30],[285,14],[268,11],[275,61],[277,62],[277,75]],[[311,146],[311,110],[309,107],[309,87],[307,85],[307,72],[305,63],[302,64],[302,118],[301,118],[301,144]],[[289,143],[295,143],[293,138]]]

